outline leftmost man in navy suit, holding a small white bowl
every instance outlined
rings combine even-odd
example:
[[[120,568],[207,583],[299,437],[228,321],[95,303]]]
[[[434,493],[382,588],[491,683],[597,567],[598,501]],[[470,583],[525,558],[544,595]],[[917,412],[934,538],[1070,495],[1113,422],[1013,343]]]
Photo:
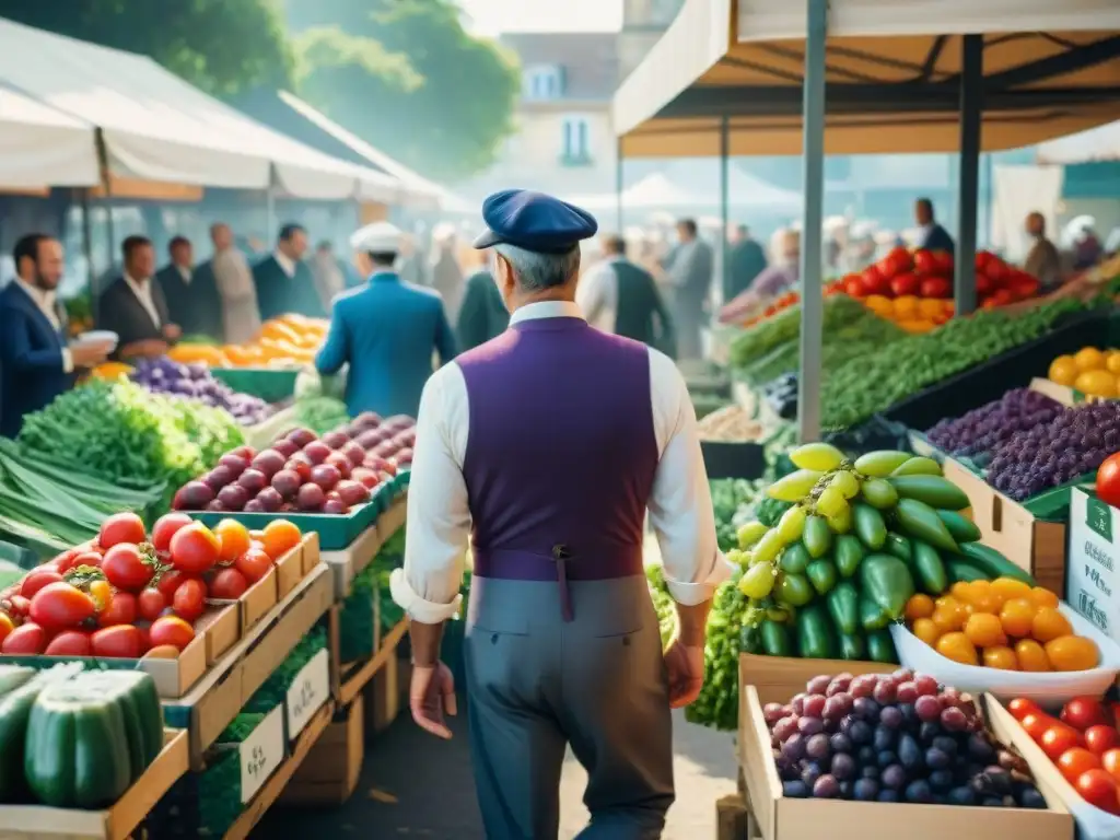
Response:
[[[104,344],[67,347],[66,308],[55,297],[65,265],[58,240],[24,236],[12,259],[16,278],[0,292],[0,435],[8,438],[109,352]]]

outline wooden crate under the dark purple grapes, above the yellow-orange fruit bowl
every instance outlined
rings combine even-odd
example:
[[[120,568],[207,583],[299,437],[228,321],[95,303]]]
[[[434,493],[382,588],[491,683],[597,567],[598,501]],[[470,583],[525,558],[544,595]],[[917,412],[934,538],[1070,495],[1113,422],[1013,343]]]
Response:
[[[1063,597],[1065,523],[1037,519],[952,458],[945,458],[942,468],[945,478],[968,495],[972,506],[965,515],[980,529],[980,541],[1033,575],[1039,586]]]

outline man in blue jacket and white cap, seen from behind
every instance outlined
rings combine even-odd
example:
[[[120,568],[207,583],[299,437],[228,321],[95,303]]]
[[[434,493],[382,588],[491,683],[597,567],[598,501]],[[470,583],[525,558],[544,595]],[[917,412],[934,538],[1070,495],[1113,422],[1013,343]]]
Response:
[[[330,332],[315,366],[330,376],[349,364],[346,408],[351,416],[416,417],[432,372],[455,356],[455,337],[439,293],[401,280],[393,270],[401,232],[388,222],[366,225],[351,237],[365,286],[335,298]]]

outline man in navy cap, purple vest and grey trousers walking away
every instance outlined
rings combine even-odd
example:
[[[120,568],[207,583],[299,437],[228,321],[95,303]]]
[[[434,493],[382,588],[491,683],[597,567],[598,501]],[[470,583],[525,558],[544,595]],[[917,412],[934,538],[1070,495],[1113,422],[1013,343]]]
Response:
[[[486,836],[554,838],[570,745],[588,772],[581,838],[659,838],[673,801],[671,707],[703,681],[704,624],[729,567],[696,414],[675,365],[590,327],[576,305],[595,220],[540,193],[483,205],[510,329],[424,386],[404,567],[412,717],[449,738],[444,623],[474,577],[464,656]],[[646,512],[678,603],[663,652],[642,562]]]

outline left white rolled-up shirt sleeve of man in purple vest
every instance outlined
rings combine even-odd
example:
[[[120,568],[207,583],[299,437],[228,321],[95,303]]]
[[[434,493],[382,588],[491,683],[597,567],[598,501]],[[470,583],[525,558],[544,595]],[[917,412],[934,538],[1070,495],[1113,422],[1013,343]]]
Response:
[[[404,567],[393,571],[393,600],[421,624],[439,624],[459,609],[470,534],[463,456],[467,389],[451,363],[424,385],[417,417],[416,456],[409,482]]]

